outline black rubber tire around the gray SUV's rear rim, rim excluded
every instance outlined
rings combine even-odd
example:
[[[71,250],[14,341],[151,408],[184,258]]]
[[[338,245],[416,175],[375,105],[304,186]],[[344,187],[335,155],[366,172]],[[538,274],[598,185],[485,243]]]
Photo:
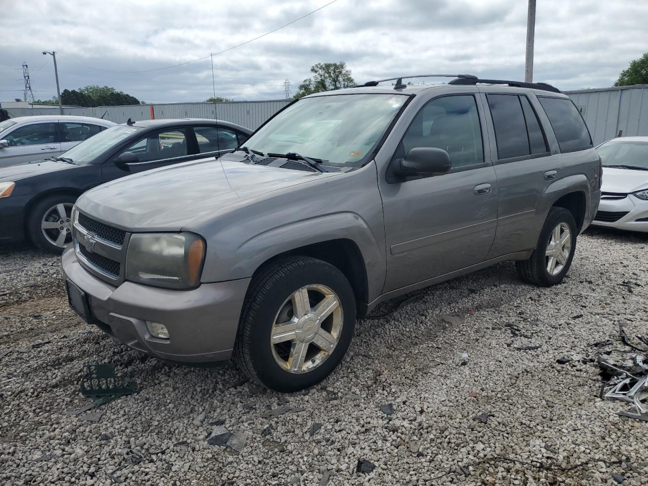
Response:
[[[553,229],[561,223],[569,226],[571,231],[571,250],[562,270],[556,275],[551,275],[547,270],[546,250],[550,243]],[[531,253],[531,257],[528,260],[515,262],[515,268],[520,279],[526,283],[540,287],[550,287],[561,283],[566,273],[569,272],[570,266],[572,266],[573,255],[576,251],[576,238],[576,222],[572,213],[564,209],[564,207],[552,207],[544,221],[544,226],[542,226],[542,231],[540,231],[540,237],[538,238],[538,244],[535,250],[533,250],[533,253]]]

